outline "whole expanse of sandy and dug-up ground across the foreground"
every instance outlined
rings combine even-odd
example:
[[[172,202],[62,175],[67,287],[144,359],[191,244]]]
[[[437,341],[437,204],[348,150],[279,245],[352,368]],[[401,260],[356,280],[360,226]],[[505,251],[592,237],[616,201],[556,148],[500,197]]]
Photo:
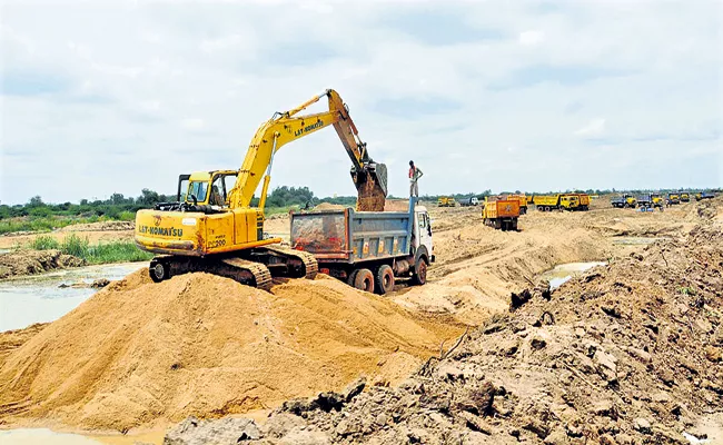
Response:
[[[388,297],[324,276],[265,293],[139,271],[57,322],[0,334],[0,426],[127,432],[276,409],[254,437],[676,443],[723,405],[721,207],[533,212],[519,233],[432,209],[429,283]],[[537,284],[592,260],[611,265],[552,296]],[[364,393],[329,411],[306,399],[360,376]]]

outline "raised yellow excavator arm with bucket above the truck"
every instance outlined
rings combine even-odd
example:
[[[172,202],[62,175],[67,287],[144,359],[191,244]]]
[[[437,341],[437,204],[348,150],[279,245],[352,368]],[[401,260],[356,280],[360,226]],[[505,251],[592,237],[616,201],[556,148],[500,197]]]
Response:
[[[329,110],[314,115],[297,116],[321,98],[328,98]],[[329,89],[299,107],[277,112],[259,127],[251,139],[246,158],[230,192],[230,207],[249,207],[251,198],[263,180],[259,208],[264,208],[275,154],[286,144],[300,139],[328,126],[334,126],[341,144],[351,159],[351,179],[357,188],[357,210],[382,211],[387,195],[387,170],[384,164],[369,158],[366,144],[349,116],[339,95]],[[265,176],[264,176],[265,175]]]

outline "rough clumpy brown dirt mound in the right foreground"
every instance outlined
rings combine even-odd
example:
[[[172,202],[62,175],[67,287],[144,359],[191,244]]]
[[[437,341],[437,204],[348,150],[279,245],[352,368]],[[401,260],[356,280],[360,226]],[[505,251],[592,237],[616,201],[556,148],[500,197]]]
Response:
[[[397,388],[287,402],[254,429],[259,439],[251,443],[703,438],[702,419],[723,419],[721,295],[721,227],[699,226],[552,295],[527,291],[521,306],[464,335]],[[723,425],[714,434],[720,443]]]

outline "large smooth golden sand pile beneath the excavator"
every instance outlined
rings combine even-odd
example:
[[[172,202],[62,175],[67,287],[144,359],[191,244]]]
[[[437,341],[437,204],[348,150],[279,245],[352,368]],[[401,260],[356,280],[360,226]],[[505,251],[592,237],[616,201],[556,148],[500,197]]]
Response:
[[[112,283],[0,363],[0,423],[118,429],[397,382],[460,332],[330,278],[273,294],[207,274]]]

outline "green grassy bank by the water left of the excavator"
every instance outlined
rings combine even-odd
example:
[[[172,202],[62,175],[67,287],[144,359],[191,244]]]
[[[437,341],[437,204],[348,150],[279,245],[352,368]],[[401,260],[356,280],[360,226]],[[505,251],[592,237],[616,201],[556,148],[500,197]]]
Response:
[[[147,261],[152,254],[140,250],[132,241],[115,240],[90,245],[88,238],[71,234],[61,241],[48,235],[36,237],[29,245],[36,250],[57,249],[67,255],[85,259],[88,264]]]

